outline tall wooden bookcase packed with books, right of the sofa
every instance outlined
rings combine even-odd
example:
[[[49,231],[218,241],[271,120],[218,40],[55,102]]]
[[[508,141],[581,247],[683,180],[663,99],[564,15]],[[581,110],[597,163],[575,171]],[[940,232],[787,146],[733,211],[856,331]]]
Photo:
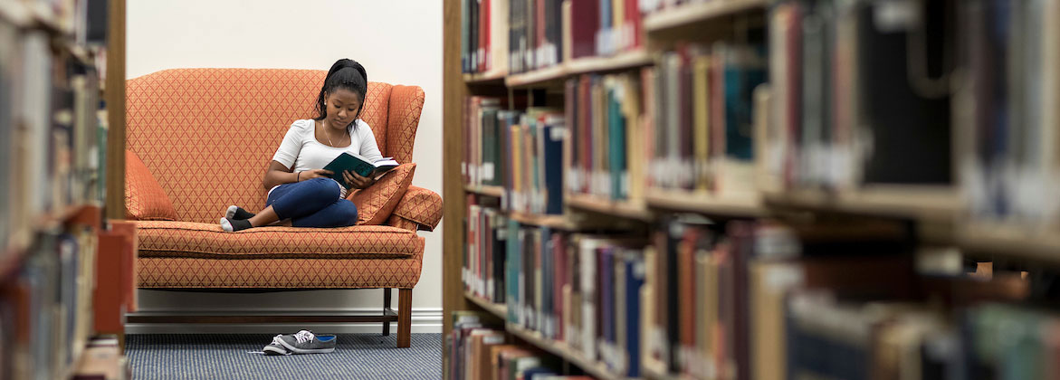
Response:
[[[1058,374],[1060,2],[445,6],[448,378]]]

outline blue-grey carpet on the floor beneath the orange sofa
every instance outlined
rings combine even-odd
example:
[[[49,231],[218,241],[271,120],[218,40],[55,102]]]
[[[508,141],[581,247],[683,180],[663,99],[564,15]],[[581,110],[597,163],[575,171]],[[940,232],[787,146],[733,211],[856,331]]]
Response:
[[[262,356],[268,334],[130,334],[126,356],[142,379],[441,379],[440,333],[339,334],[332,354]]]

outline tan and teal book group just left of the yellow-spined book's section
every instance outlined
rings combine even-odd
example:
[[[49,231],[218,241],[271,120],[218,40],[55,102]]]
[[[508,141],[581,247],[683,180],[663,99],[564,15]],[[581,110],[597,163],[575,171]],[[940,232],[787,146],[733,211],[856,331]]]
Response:
[[[636,73],[567,79],[567,191],[612,200],[644,199],[641,80]]]

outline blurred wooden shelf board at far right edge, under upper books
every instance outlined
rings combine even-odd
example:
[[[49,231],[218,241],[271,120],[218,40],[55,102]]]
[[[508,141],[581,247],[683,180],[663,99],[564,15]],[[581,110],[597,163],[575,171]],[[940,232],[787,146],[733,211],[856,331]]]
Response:
[[[1060,264],[1060,231],[1024,229],[1004,223],[969,222],[957,230],[957,243],[968,252]]]

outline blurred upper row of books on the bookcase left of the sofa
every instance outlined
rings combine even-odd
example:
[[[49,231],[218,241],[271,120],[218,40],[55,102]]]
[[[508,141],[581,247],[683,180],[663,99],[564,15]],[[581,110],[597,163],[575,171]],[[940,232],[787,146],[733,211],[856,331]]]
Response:
[[[0,22],[0,246],[43,215],[99,203],[106,126],[92,65],[53,52],[48,32]],[[41,191],[46,189],[46,191]]]

